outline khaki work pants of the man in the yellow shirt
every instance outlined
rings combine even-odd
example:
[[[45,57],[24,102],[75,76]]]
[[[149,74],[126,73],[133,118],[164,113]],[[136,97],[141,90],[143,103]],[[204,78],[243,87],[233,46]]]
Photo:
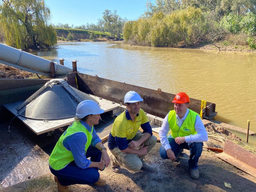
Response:
[[[133,141],[138,141],[143,136],[143,133],[138,131]],[[144,141],[144,147],[148,146],[148,152],[155,146],[157,138],[152,135],[146,141]],[[139,171],[142,167],[142,161],[145,155],[135,155],[131,153],[124,153],[118,147],[110,150],[113,154],[113,162],[117,165],[123,165],[125,168],[132,171]]]

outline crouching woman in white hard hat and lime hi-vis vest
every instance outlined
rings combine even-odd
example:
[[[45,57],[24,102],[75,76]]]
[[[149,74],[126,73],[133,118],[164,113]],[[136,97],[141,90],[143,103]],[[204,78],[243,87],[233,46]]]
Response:
[[[98,170],[108,167],[110,158],[106,147],[93,128],[104,110],[92,101],[78,104],[76,121],[61,135],[49,157],[49,168],[59,192],[70,192],[69,185],[106,185]],[[87,158],[90,157],[90,160]]]

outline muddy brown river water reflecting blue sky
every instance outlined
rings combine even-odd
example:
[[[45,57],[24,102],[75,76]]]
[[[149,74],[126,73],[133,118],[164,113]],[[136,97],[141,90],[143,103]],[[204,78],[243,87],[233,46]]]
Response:
[[[77,42],[33,54],[58,63],[64,58],[70,68],[77,60],[77,70],[89,75],[173,94],[186,92],[216,103],[215,120],[244,129],[250,120],[250,130],[256,132],[255,53]]]

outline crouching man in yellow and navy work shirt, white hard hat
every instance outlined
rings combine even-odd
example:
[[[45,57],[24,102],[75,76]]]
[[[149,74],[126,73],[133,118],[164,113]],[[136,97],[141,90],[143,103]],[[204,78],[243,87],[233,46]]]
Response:
[[[140,108],[141,101],[143,99],[135,91],[126,93],[126,110],[117,116],[109,134],[108,147],[112,153],[112,171],[115,173],[121,173],[120,165],[132,171],[154,171],[144,157],[154,147],[157,138],[152,135],[149,120]],[[140,127],[142,133],[138,131]]]

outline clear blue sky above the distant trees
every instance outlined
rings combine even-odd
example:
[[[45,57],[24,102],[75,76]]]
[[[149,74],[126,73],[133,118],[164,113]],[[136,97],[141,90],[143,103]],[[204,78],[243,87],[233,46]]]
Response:
[[[70,26],[97,24],[105,9],[112,12],[117,10],[120,17],[135,20],[145,12],[146,2],[147,0],[45,0],[51,9],[51,23],[68,23]]]

